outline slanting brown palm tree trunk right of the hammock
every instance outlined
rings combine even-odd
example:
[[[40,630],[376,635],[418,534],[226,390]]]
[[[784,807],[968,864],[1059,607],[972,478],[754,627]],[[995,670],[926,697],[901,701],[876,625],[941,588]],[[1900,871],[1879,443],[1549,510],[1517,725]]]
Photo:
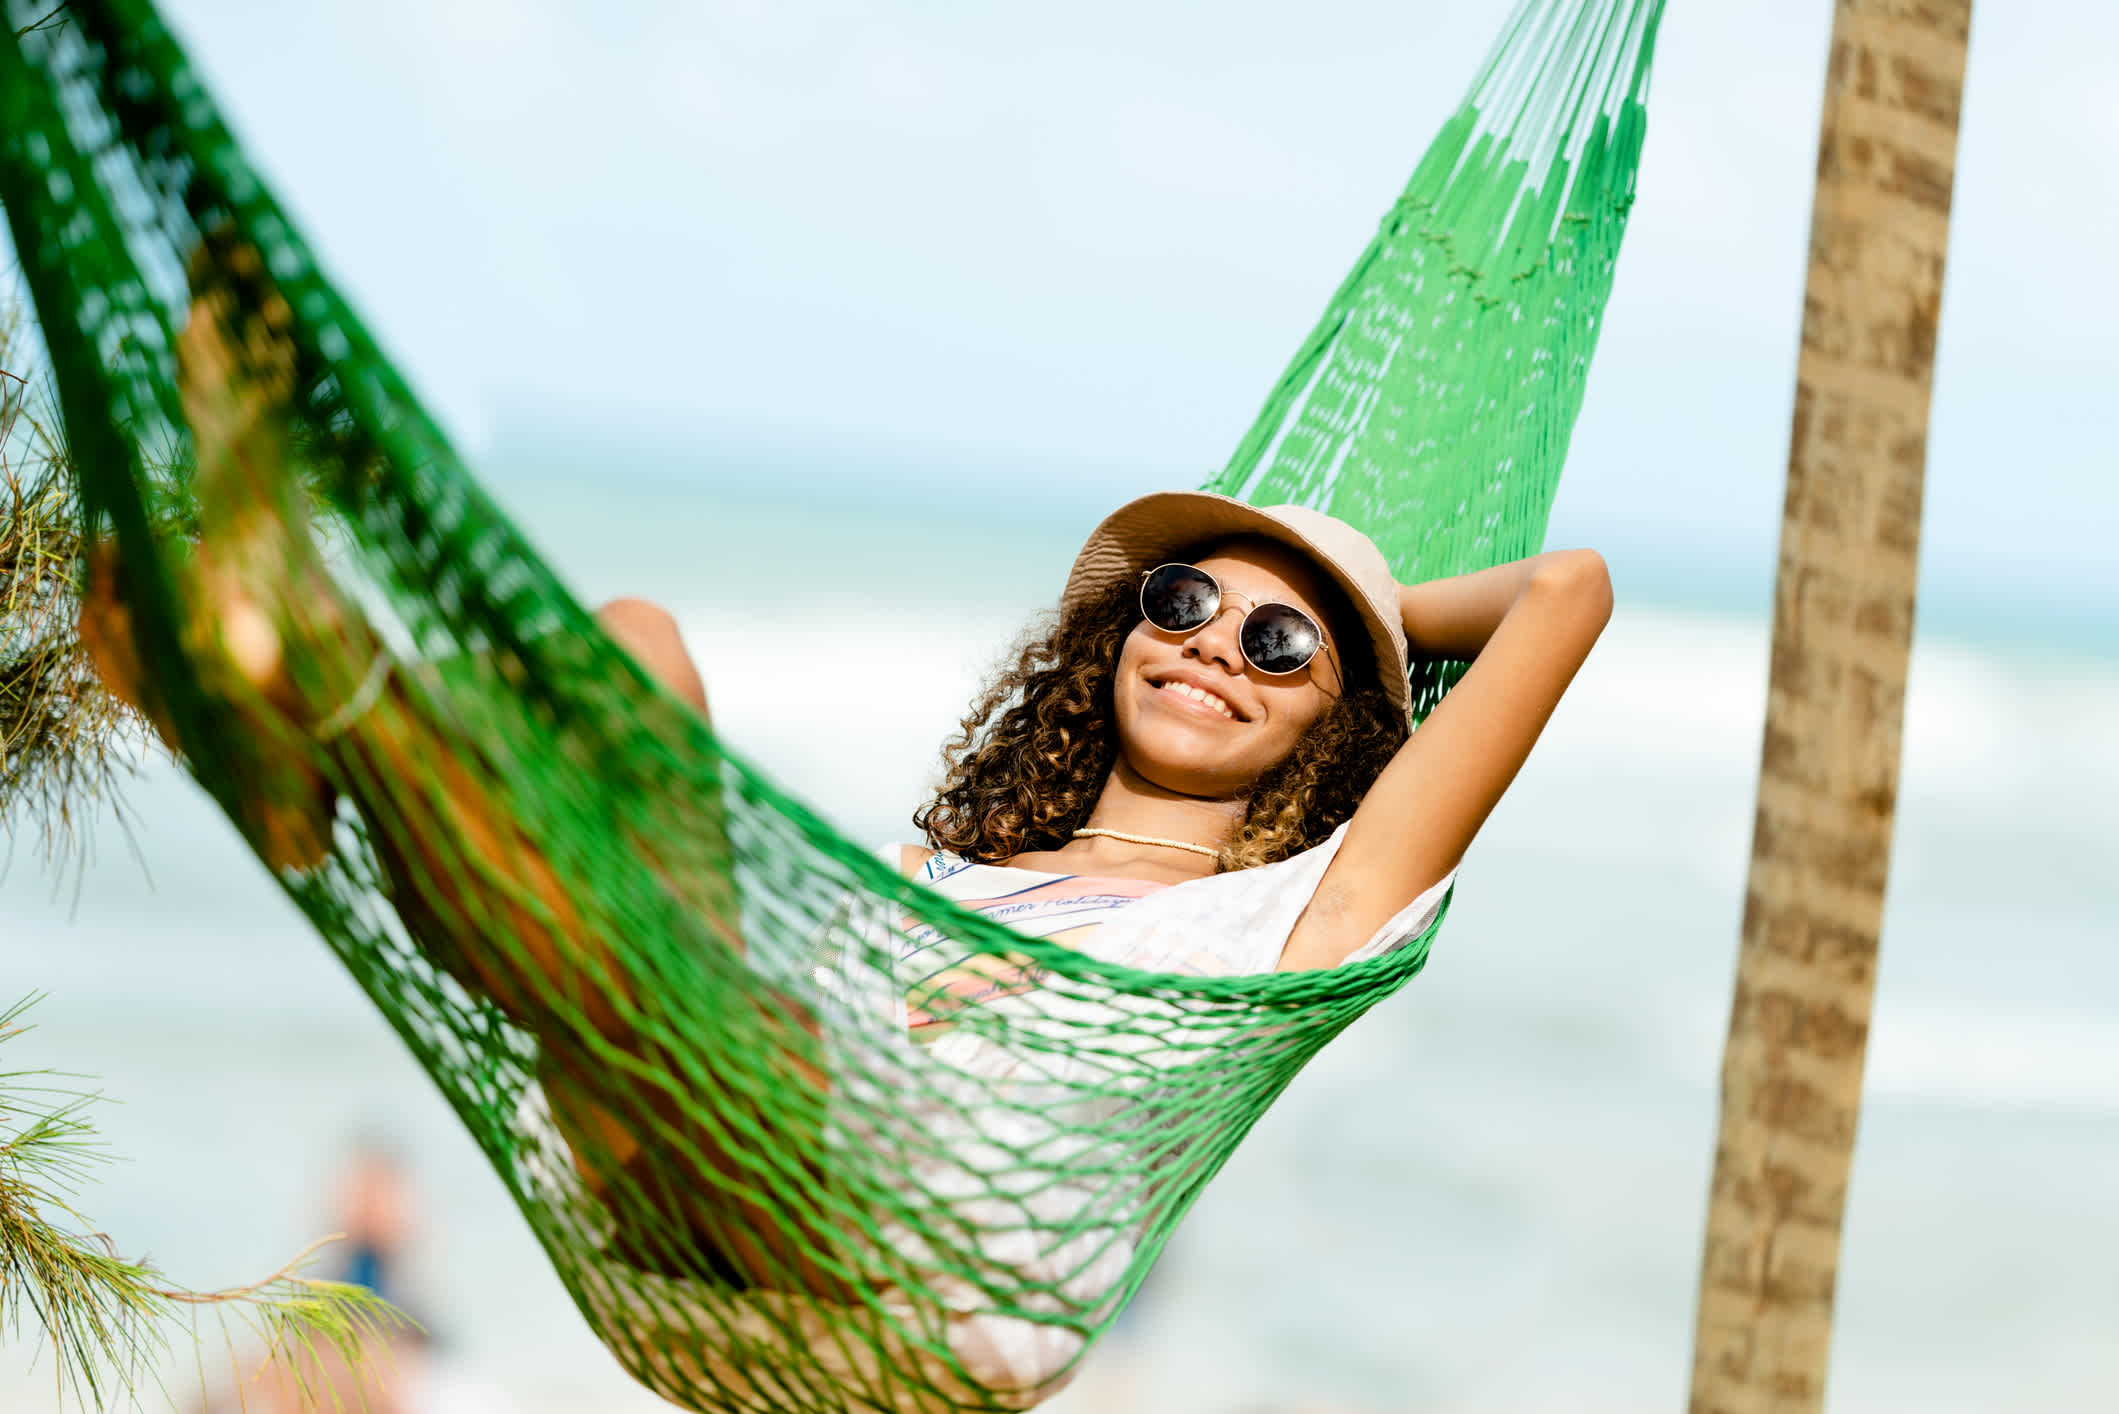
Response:
[[[1693,1414],[1820,1410],[1899,799],[1971,0],[1837,0]]]

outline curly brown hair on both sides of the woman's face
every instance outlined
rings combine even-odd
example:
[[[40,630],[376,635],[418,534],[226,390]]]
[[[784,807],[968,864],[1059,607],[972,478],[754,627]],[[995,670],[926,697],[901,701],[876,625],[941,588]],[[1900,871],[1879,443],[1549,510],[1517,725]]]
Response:
[[[1337,632],[1358,625],[1352,606],[1326,604],[1326,619],[1348,687],[1259,780],[1221,871],[1322,844],[1405,744],[1405,714],[1384,695],[1367,634]],[[1030,630],[943,746],[941,791],[913,812],[932,848],[1000,863],[1057,850],[1087,825],[1119,757],[1115,681],[1138,621],[1138,591],[1121,581]]]

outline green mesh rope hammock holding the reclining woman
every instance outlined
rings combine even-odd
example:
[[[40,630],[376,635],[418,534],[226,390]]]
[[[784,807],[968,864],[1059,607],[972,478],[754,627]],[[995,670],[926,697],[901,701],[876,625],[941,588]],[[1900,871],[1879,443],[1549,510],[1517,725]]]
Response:
[[[901,880],[566,594],[146,0],[0,4],[0,204],[100,545],[83,632],[610,1350],[695,1410],[1049,1393],[1432,929],[1335,971],[1151,975]],[[1212,490],[1348,517],[1401,579],[1538,547],[1659,15],[1519,4]],[[1418,668],[1422,710],[1456,668]],[[956,1018],[977,1064],[890,1022],[911,929],[1036,979]],[[1047,1338],[1045,1367],[971,1329]]]

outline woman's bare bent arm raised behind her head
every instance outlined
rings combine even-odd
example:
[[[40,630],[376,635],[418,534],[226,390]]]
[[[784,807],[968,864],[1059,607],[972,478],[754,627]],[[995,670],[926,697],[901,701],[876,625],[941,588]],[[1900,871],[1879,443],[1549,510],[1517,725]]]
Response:
[[[1602,555],[1566,549],[1407,585],[1407,638],[1473,666],[1354,812],[1282,969],[1335,967],[1471,846],[1610,619]]]

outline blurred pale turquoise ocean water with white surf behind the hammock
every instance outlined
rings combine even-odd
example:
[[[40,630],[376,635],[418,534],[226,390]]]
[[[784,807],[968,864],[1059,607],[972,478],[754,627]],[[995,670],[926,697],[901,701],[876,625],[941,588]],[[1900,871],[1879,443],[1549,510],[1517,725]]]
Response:
[[[672,604],[725,733],[875,842],[909,835],[941,738],[1096,515],[667,513],[665,488],[534,479],[511,505],[585,596]],[[1426,975],[1295,1083],[1053,1408],[1680,1408],[1765,623],[1617,570]],[[1835,1412],[2119,1408],[2113,723],[2115,661],[1916,647]],[[0,882],[0,992],[44,994],[0,1060],[110,1096],[123,1162],[81,1208],[184,1283],[248,1280],[328,1232],[350,1136],[381,1132],[453,1357],[526,1412],[655,1406],[227,825],[167,770],[133,803],[78,878],[17,842]],[[0,1338],[0,1410],[53,1408],[49,1372]],[[195,1382],[172,1376],[178,1408]]]

